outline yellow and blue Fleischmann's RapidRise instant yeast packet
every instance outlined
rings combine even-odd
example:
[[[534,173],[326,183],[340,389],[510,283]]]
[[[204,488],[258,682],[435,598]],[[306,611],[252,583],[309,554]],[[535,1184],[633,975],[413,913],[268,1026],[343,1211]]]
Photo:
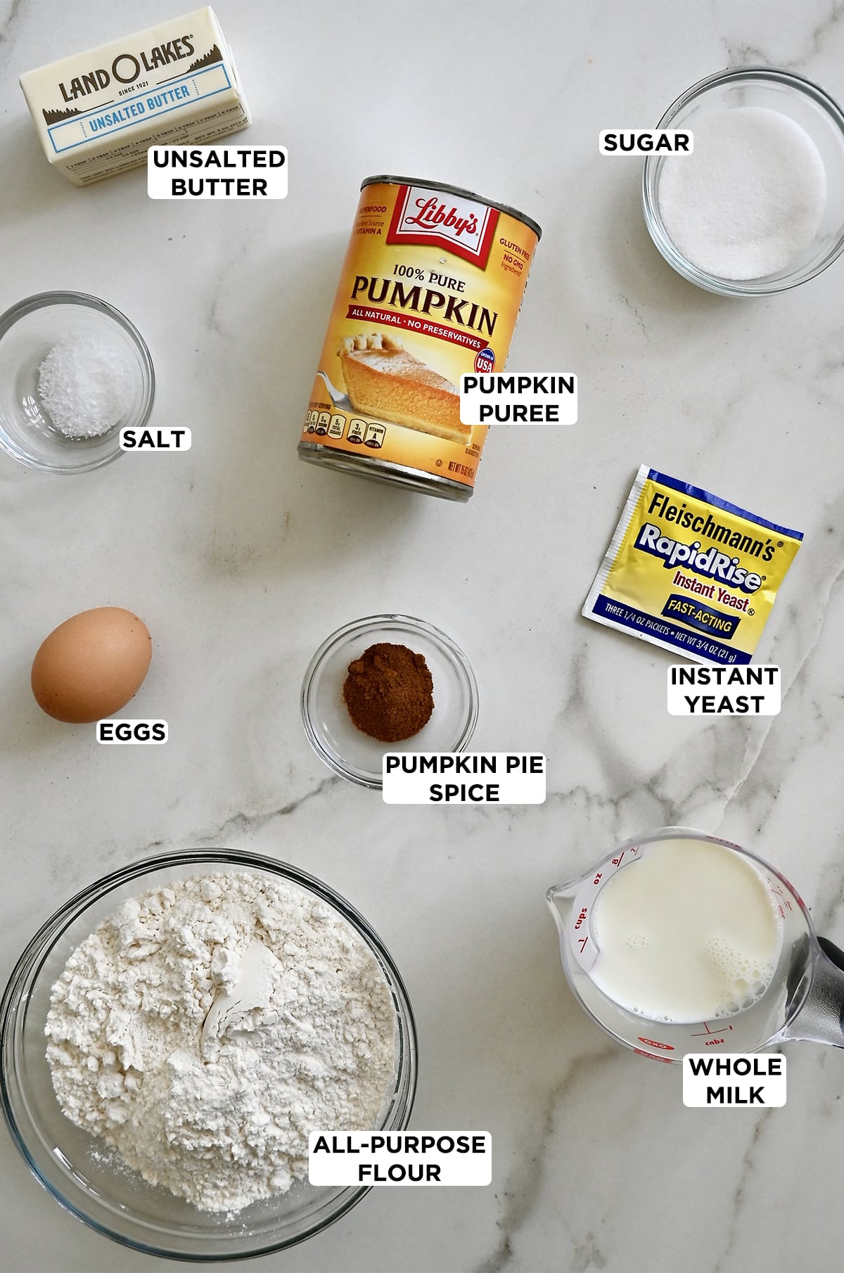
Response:
[[[700,663],[750,663],[802,540],[642,465],[583,614]]]

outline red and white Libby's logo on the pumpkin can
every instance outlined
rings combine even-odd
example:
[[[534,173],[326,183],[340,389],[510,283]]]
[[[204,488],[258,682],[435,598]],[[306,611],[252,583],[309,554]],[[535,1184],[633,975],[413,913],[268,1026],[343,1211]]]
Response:
[[[400,186],[388,243],[442,243],[465,261],[486,269],[498,209],[460,195],[443,197],[424,186]]]

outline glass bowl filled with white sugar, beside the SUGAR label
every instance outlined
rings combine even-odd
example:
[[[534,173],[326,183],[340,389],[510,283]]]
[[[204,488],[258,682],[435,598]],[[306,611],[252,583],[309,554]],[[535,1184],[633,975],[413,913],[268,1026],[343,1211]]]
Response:
[[[694,84],[659,129],[690,154],[649,155],[643,205],[679,274],[726,297],[785,292],[844,251],[844,113],[811,80],[740,66]]]

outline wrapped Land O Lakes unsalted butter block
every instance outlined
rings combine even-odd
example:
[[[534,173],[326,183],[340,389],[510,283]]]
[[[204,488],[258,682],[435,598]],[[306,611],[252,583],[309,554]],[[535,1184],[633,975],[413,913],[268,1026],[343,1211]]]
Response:
[[[251,122],[213,9],[159,23],[20,76],[51,164],[88,186],[153,145],[213,141]]]

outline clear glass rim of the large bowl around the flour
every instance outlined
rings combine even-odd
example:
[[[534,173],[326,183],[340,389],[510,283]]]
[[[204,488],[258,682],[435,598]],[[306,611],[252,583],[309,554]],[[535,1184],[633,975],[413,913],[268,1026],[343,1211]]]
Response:
[[[118,1234],[108,1226],[88,1216],[84,1211],[71,1203],[67,1198],[53,1186],[53,1184],[45,1179],[45,1176],[38,1170],[37,1164],[33,1161],[27,1143],[18,1128],[15,1122],[14,1111],[11,1109],[11,1102],[9,1097],[9,1085],[14,1083],[20,1088],[20,1076],[17,1073],[14,1064],[6,1072],[5,1058],[8,1053],[11,1053],[11,1059],[14,1062],[14,1041],[17,1035],[17,1025],[19,1021],[19,1008],[24,995],[28,995],[33,983],[36,981],[47,952],[55,942],[59,939],[61,933],[69,927],[73,920],[78,919],[93,903],[98,901],[106,896],[112,890],[120,887],[121,885],[129,883],[132,880],[143,878],[146,875],[151,875],[155,871],[179,867],[179,866],[213,866],[213,867],[236,867],[236,868],[255,868],[258,871],[269,871],[272,875],[280,876],[283,880],[288,880],[292,883],[299,885],[303,889],[309,890],[317,896],[327,901],[328,905],[334,906],[344,919],[346,919],[351,927],[364,938],[368,946],[373,948],[378,959],[390,970],[390,976],[393,981],[393,1008],[396,1016],[402,1021],[402,1026],[406,1029],[407,1046],[405,1050],[400,1051],[397,1062],[397,1080],[396,1090],[398,1094],[404,1092],[404,1097],[400,1101],[401,1108],[400,1116],[397,1120],[388,1120],[391,1130],[404,1130],[410,1122],[410,1115],[414,1108],[414,1099],[416,1095],[416,1080],[418,1080],[418,1036],[416,1036],[416,1022],[414,1018],[414,1011],[410,1003],[410,997],[407,994],[405,983],[393,962],[390,951],[383,945],[374,928],[364,919],[364,917],[355,910],[355,908],[346,901],[341,894],[335,892],[327,883],[318,880],[316,876],[309,875],[307,871],[302,871],[299,867],[293,866],[289,862],[281,862],[276,858],[267,858],[257,853],[247,853],[238,849],[222,849],[222,848],[196,848],[196,849],[179,849],[171,853],[157,854],[151,858],[141,858],[137,862],[132,862],[129,866],[121,867],[117,871],[112,871],[106,876],[101,876],[99,880],[94,880],[93,883],[88,885],[75,896],[70,897],[59,910],[55,911],[47,919],[38,932],[27,943],[25,950],[20,955],[18,962],[15,964],[9,981],[6,983],[3,997],[0,998],[0,1106],[3,1108],[3,1114],[6,1122],[6,1127],[11,1136],[11,1139],[20,1151],[23,1158],[25,1160],[29,1170],[38,1180],[38,1183],[47,1190],[47,1193],[56,1199],[56,1202],[69,1211],[83,1223],[88,1225],[95,1232],[102,1234],[113,1241],[120,1242],[122,1246],[129,1246],[132,1250],[143,1251],[148,1255],[157,1255],[164,1259],[174,1259],[185,1263],[227,1263],[230,1260],[251,1259],[260,1255],[267,1255],[272,1251],[285,1250],[290,1246],[295,1246],[299,1242],[306,1241],[308,1237],[313,1237],[314,1234],[322,1232],[335,1221],[340,1220],[342,1216],[348,1214],[353,1207],[355,1207],[365,1194],[369,1193],[372,1185],[364,1185],[359,1189],[349,1186],[335,1199],[334,1211],[327,1217],[317,1220],[303,1232],[297,1234],[290,1239],[281,1239],[278,1241],[269,1242],[266,1245],[256,1246],[253,1250],[236,1251],[232,1254],[219,1254],[219,1253],[186,1253],[186,1251],[172,1251],[164,1248],[153,1246],[150,1244],[136,1241],[130,1239],[123,1234]],[[396,995],[398,1003],[396,1003]],[[387,1124],[386,1124],[387,1125]]]

